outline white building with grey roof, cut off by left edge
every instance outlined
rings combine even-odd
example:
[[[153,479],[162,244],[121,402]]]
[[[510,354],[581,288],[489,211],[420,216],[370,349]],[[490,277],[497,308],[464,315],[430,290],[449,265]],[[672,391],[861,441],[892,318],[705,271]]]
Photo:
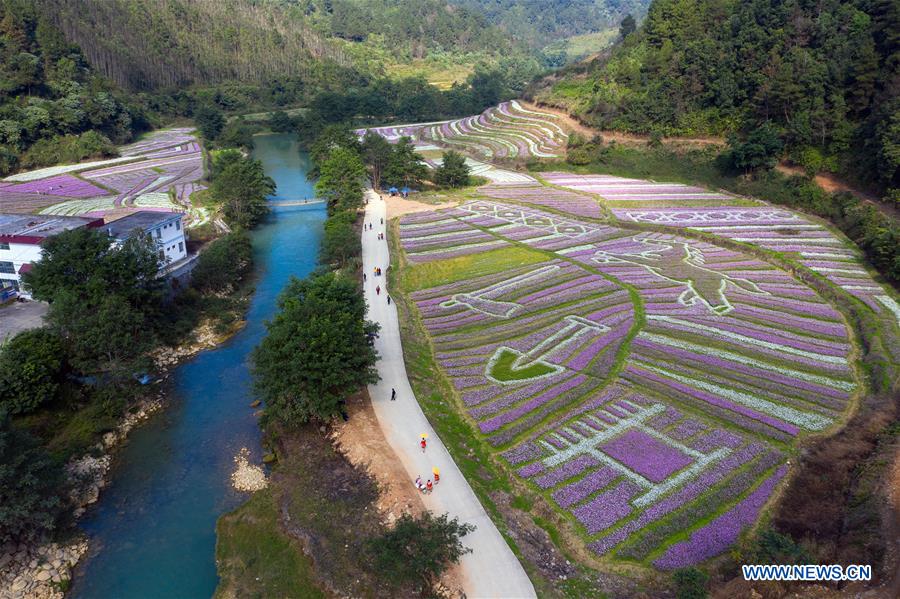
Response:
[[[41,259],[41,244],[63,231],[103,226],[102,218],[0,214],[0,289],[21,291],[22,275]]]

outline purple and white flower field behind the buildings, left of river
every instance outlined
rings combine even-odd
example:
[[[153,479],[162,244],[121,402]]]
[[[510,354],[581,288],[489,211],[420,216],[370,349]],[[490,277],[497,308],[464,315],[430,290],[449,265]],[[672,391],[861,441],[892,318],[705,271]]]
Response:
[[[70,216],[190,210],[190,193],[202,188],[197,182],[203,177],[202,150],[190,129],[156,131],[120,152],[120,158],[8,177],[0,182],[0,206]]]

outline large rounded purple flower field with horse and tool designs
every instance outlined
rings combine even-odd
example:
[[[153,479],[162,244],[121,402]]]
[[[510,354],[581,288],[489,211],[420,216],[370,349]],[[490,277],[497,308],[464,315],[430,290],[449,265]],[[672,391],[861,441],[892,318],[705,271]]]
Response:
[[[728,228],[742,223],[770,236],[790,224],[820,238],[819,225],[744,198],[573,177],[545,178],[614,195],[623,220],[732,238],[750,236]],[[786,475],[794,442],[850,408],[841,314],[753,256],[585,220],[602,213],[582,193],[481,193],[492,199],[399,224],[411,269],[515,244],[546,256],[409,291],[474,430],[598,556],[668,570],[726,551]]]

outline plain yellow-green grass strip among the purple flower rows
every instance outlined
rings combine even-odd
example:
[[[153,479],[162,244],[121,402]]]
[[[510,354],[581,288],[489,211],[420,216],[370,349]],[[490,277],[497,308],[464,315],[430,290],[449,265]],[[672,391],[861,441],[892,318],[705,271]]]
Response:
[[[400,281],[402,289],[410,292],[546,261],[547,256],[534,250],[522,247],[500,248],[446,260],[409,265],[403,269]]]

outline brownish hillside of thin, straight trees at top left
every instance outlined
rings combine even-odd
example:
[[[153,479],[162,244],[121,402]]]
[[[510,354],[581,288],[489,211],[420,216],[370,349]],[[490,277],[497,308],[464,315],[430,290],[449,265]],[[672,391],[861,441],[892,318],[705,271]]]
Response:
[[[344,53],[279,3],[33,0],[104,75],[129,89],[328,76]],[[336,76],[336,75],[332,75]]]

